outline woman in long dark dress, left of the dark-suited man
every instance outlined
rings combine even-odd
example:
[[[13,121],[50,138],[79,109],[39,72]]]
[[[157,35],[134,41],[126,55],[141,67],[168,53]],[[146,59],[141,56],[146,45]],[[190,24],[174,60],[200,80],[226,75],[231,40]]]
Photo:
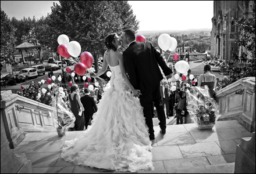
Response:
[[[79,115],[79,110],[84,111],[83,104],[80,101],[79,88],[78,85],[72,85],[69,93],[69,104],[71,106],[71,111],[76,117],[76,121],[74,121],[74,129],[73,131],[83,131],[84,130],[84,115],[83,112]]]

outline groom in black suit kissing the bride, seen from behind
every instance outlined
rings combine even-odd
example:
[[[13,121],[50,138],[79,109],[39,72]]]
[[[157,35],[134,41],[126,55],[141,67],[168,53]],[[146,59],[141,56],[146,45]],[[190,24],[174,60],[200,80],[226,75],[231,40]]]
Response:
[[[149,128],[150,139],[154,140],[152,121],[153,103],[157,109],[161,133],[165,134],[166,118],[160,94],[160,81],[163,79],[159,66],[166,78],[172,77],[172,70],[166,65],[163,57],[150,42],[136,42],[136,34],[132,29],[123,31],[120,38],[128,48],[123,52],[123,60],[130,82],[135,89],[141,90],[140,103],[143,107],[145,122]]]

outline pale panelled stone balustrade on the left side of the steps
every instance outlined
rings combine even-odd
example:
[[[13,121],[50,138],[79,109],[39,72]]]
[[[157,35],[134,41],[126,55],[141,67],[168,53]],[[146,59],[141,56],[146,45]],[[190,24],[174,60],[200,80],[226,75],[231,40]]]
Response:
[[[22,142],[27,132],[56,131],[49,111],[56,108],[13,94],[11,90],[1,91],[1,115],[10,148]],[[58,110],[58,114],[65,113]]]

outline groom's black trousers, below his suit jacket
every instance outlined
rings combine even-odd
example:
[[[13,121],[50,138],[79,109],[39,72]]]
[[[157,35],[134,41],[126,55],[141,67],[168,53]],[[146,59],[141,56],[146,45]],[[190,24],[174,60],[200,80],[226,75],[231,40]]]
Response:
[[[161,129],[166,129],[166,118],[165,111],[163,110],[163,103],[160,94],[160,82],[151,85],[151,88],[141,89],[142,95],[140,96],[140,104],[143,107],[143,113],[145,117],[145,122],[148,126],[148,132],[150,135],[154,135],[154,125],[153,125],[153,113],[154,106],[157,110],[157,117],[159,119],[159,126]]]

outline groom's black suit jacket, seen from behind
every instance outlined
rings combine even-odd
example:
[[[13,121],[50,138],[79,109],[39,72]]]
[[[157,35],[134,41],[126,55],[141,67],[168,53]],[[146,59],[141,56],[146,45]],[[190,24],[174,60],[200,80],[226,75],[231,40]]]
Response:
[[[160,82],[163,76],[159,66],[165,75],[172,74],[161,54],[148,41],[131,43],[123,52],[123,60],[135,89],[147,89],[155,82]]]

